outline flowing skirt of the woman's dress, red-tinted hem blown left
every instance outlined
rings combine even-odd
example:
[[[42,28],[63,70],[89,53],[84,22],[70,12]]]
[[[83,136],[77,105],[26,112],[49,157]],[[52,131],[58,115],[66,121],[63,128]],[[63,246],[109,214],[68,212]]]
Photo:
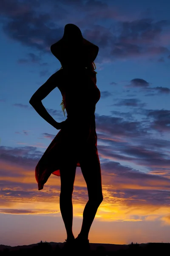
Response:
[[[60,176],[59,169],[64,161],[75,160],[77,167],[80,166],[80,158],[91,154],[92,157],[99,155],[97,150],[97,134],[95,120],[90,127],[77,127],[61,129],[45,150],[35,168],[35,177],[38,183],[38,190],[43,189],[51,174]]]

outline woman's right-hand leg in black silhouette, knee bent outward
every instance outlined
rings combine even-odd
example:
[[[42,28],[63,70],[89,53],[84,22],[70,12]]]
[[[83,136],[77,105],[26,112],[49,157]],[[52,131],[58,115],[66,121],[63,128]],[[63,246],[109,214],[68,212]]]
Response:
[[[81,158],[82,175],[85,178],[88,189],[88,202],[83,212],[82,228],[79,237],[88,239],[91,224],[94,221],[97,209],[103,201],[102,179],[99,158],[95,153]]]

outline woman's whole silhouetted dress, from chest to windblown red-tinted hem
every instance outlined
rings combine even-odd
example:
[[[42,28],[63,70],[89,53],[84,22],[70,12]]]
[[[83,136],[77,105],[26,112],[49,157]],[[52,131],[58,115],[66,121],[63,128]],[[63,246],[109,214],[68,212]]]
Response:
[[[37,163],[38,190],[43,189],[51,174],[60,176],[59,169],[64,161],[74,159],[77,167],[81,167],[79,160],[85,151],[96,154],[99,161],[95,109],[100,91],[96,86],[96,73],[87,69],[58,72],[63,78],[58,88],[67,111],[66,126],[54,137]]]

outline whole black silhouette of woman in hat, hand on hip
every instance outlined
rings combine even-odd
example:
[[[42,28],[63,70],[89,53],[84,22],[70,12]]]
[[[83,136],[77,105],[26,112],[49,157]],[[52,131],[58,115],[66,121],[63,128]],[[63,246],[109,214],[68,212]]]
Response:
[[[100,99],[94,71],[98,51],[96,45],[82,37],[76,25],[65,25],[62,39],[51,46],[51,52],[62,67],[29,101],[42,118],[60,130],[38,162],[35,175],[38,190],[43,189],[51,174],[60,176],[59,203],[67,232],[67,245],[77,243],[89,246],[91,224],[103,200],[94,114]],[[62,94],[62,110],[67,111],[67,119],[60,123],[49,115],[41,102],[56,87]],[[77,166],[81,167],[87,184],[88,202],[83,212],[81,231],[74,239],[72,193]]]

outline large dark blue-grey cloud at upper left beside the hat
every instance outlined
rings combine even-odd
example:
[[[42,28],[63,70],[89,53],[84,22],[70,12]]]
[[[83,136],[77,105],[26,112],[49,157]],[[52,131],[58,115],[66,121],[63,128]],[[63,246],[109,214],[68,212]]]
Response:
[[[52,22],[51,16],[48,13],[38,13],[31,9],[33,7],[30,7],[26,12],[19,13],[17,18],[16,16],[10,15],[9,20],[3,21],[3,31],[10,38],[19,41],[25,46],[47,52],[51,44],[57,41],[56,35],[58,39],[61,38],[63,29],[51,29],[48,24]]]

